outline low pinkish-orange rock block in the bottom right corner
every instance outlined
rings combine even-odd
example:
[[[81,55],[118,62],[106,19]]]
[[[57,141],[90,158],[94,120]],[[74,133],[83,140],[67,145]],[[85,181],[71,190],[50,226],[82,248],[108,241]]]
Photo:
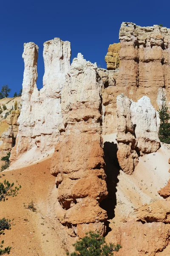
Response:
[[[162,222],[128,221],[119,232],[117,241],[122,248],[116,256],[157,256],[170,242],[170,224]]]

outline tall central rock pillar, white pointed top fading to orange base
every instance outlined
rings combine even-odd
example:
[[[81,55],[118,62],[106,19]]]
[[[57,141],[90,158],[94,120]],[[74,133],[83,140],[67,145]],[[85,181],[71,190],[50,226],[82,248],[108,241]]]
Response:
[[[108,195],[101,138],[102,81],[96,64],[74,58],[62,91],[65,132],[60,135],[51,166],[58,187],[57,217],[80,237],[89,230],[105,232],[106,211],[99,203]]]

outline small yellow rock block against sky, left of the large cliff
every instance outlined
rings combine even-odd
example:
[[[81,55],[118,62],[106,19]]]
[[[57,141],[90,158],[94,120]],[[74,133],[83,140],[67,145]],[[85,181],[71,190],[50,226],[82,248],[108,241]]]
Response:
[[[120,67],[119,52],[120,43],[109,45],[107,55],[105,56],[108,70],[115,70]]]

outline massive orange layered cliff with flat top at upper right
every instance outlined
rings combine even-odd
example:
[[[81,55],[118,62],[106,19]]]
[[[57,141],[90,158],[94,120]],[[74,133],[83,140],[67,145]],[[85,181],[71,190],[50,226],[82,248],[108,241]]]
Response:
[[[116,96],[121,93],[135,102],[146,95],[156,110],[161,105],[163,95],[167,103],[170,102],[170,29],[123,22],[119,39],[119,75],[115,86],[109,84],[103,93],[104,134],[116,132],[114,106]]]

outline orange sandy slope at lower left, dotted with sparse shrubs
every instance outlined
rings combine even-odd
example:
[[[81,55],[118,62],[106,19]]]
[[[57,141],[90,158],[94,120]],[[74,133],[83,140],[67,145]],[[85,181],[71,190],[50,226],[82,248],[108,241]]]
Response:
[[[16,197],[0,202],[0,218],[12,220],[11,230],[0,237],[5,246],[12,247],[11,256],[64,256],[70,250],[69,244],[75,241],[55,216],[57,189],[55,177],[50,174],[50,162],[47,159],[0,173],[0,182],[6,179],[22,186]],[[27,209],[31,201],[36,212]]]

